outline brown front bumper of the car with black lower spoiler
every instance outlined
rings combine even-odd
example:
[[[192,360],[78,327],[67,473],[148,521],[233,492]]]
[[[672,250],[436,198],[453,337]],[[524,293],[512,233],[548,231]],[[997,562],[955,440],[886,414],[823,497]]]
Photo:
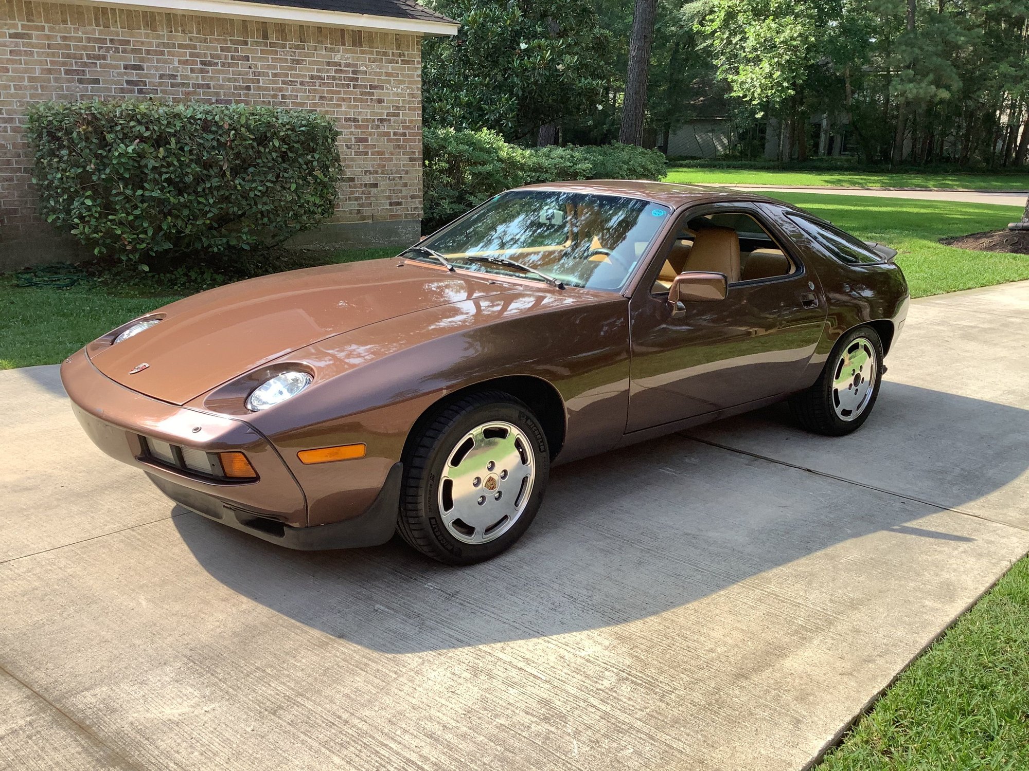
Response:
[[[83,351],[65,361],[61,379],[93,442],[111,457],[145,471],[165,494],[191,511],[293,549],[372,546],[393,535],[400,464],[390,470],[378,498],[363,513],[309,527],[300,484],[272,443],[245,420],[127,389],[100,372]],[[257,479],[216,480],[168,468],[147,457],[141,437],[204,452],[242,451]]]

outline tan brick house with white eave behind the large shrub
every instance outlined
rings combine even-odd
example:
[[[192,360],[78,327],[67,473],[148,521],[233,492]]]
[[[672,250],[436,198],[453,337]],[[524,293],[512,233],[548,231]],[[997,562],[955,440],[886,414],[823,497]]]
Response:
[[[456,31],[413,0],[0,0],[0,270],[78,254],[37,214],[24,124],[38,100],[319,110],[346,177],[331,222],[301,243],[417,240],[421,41]]]

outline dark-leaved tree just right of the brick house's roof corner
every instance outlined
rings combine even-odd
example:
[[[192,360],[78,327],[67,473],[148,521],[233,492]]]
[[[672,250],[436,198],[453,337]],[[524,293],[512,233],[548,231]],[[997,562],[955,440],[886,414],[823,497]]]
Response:
[[[557,139],[591,109],[610,77],[611,40],[586,4],[542,0],[436,0],[461,24],[423,44],[423,119],[492,128],[508,140]],[[542,130],[542,131],[541,131]]]

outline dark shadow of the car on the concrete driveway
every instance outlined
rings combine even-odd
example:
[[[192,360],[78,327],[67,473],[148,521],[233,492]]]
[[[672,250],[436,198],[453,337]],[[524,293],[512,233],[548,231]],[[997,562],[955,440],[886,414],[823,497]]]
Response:
[[[960,508],[958,487],[966,493],[957,503],[967,504],[1029,468],[1029,411],[897,383],[884,384],[876,414],[850,437],[812,437],[781,408],[725,424],[705,427],[703,441],[674,435],[555,469],[522,541],[471,567],[429,561],[398,539],[293,552],[181,508],[173,522],[200,564],[240,594],[334,637],[413,653],[642,619],[880,530],[954,548],[944,544],[970,539],[911,523]],[[989,451],[966,444],[998,427]],[[734,451],[713,437],[766,451]],[[833,470],[756,456],[779,450]],[[898,472],[882,471],[901,463],[919,494],[895,489]],[[853,477],[839,473],[847,468]],[[956,468],[942,506],[929,505],[936,501],[921,491]],[[879,483],[838,478],[862,475]]]

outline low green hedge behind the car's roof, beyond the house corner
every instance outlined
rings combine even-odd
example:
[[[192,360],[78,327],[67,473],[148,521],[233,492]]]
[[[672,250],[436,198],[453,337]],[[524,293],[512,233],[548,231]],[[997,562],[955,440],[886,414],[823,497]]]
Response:
[[[524,148],[485,128],[425,128],[424,159],[426,231],[519,185],[576,179],[658,180],[668,171],[658,150],[634,145]]]

